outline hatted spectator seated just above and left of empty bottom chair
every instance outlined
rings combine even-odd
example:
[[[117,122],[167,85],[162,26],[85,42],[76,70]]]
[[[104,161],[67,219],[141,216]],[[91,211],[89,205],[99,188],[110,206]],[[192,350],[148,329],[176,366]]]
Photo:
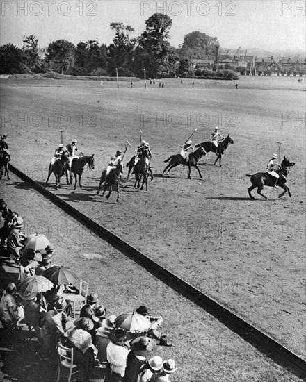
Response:
[[[49,310],[40,322],[42,327],[42,348],[46,354],[49,351],[55,350],[58,340],[64,334],[68,317],[65,313],[67,306],[68,301],[63,299],[63,297],[57,299],[54,308]]]

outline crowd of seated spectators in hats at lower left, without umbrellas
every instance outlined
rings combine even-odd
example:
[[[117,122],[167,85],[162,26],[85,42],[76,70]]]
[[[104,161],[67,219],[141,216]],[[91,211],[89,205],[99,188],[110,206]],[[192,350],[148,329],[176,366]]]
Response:
[[[50,267],[55,251],[52,244],[42,251],[24,249],[23,219],[0,199],[0,238],[10,261],[19,265],[19,283],[31,276],[42,276]],[[80,365],[84,381],[95,367],[105,368],[105,382],[170,381],[175,360],[157,355],[158,345],[172,346],[160,331],[162,317],[150,315],[139,306],[127,317],[138,317],[146,329],[129,330],[120,325],[120,316],[108,315],[99,295],[91,292],[81,307],[79,318],[72,318],[68,293],[79,294],[75,285],[55,285],[45,292],[26,296],[18,285],[9,283],[0,301],[0,320],[6,331],[18,331],[24,322],[35,332],[42,360],[58,357],[57,344],[74,349],[74,363]],[[124,315],[125,316],[125,315]]]

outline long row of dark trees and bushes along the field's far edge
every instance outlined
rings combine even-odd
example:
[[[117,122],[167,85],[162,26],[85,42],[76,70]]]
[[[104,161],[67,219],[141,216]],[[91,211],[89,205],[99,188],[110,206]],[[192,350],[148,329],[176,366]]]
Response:
[[[96,40],[79,42],[74,46],[67,40],[51,42],[45,58],[40,58],[38,38],[24,36],[24,46],[6,44],[0,47],[0,74],[32,74],[49,70],[61,74],[79,76],[119,76],[147,78],[191,76],[188,58],[214,59],[217,38],[200,32],[192,32],[184,37],[179,49],[168,42],[172,19],[168,15],[155,13],[145,22],[145,31],[131,38],[134,28],[120,22],[112,22],[115,32],[108,47]]]

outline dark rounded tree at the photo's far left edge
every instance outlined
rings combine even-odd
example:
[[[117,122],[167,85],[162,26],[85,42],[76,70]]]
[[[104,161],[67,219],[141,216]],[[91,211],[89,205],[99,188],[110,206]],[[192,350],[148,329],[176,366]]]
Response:
[[[13,44],[0,47],[0,74],[30,74],[31,70],[26,66],[26,56],[22,49]]]

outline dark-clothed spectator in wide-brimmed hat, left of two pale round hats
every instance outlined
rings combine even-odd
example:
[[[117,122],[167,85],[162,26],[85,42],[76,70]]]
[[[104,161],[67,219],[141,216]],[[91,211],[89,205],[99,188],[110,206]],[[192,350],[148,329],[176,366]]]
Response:
[[[152,338],[138,337],[131,342],[130,347],[123,381],[137,382],[140,367],[145,365],[145,358],[156,353],[156,343]]]

